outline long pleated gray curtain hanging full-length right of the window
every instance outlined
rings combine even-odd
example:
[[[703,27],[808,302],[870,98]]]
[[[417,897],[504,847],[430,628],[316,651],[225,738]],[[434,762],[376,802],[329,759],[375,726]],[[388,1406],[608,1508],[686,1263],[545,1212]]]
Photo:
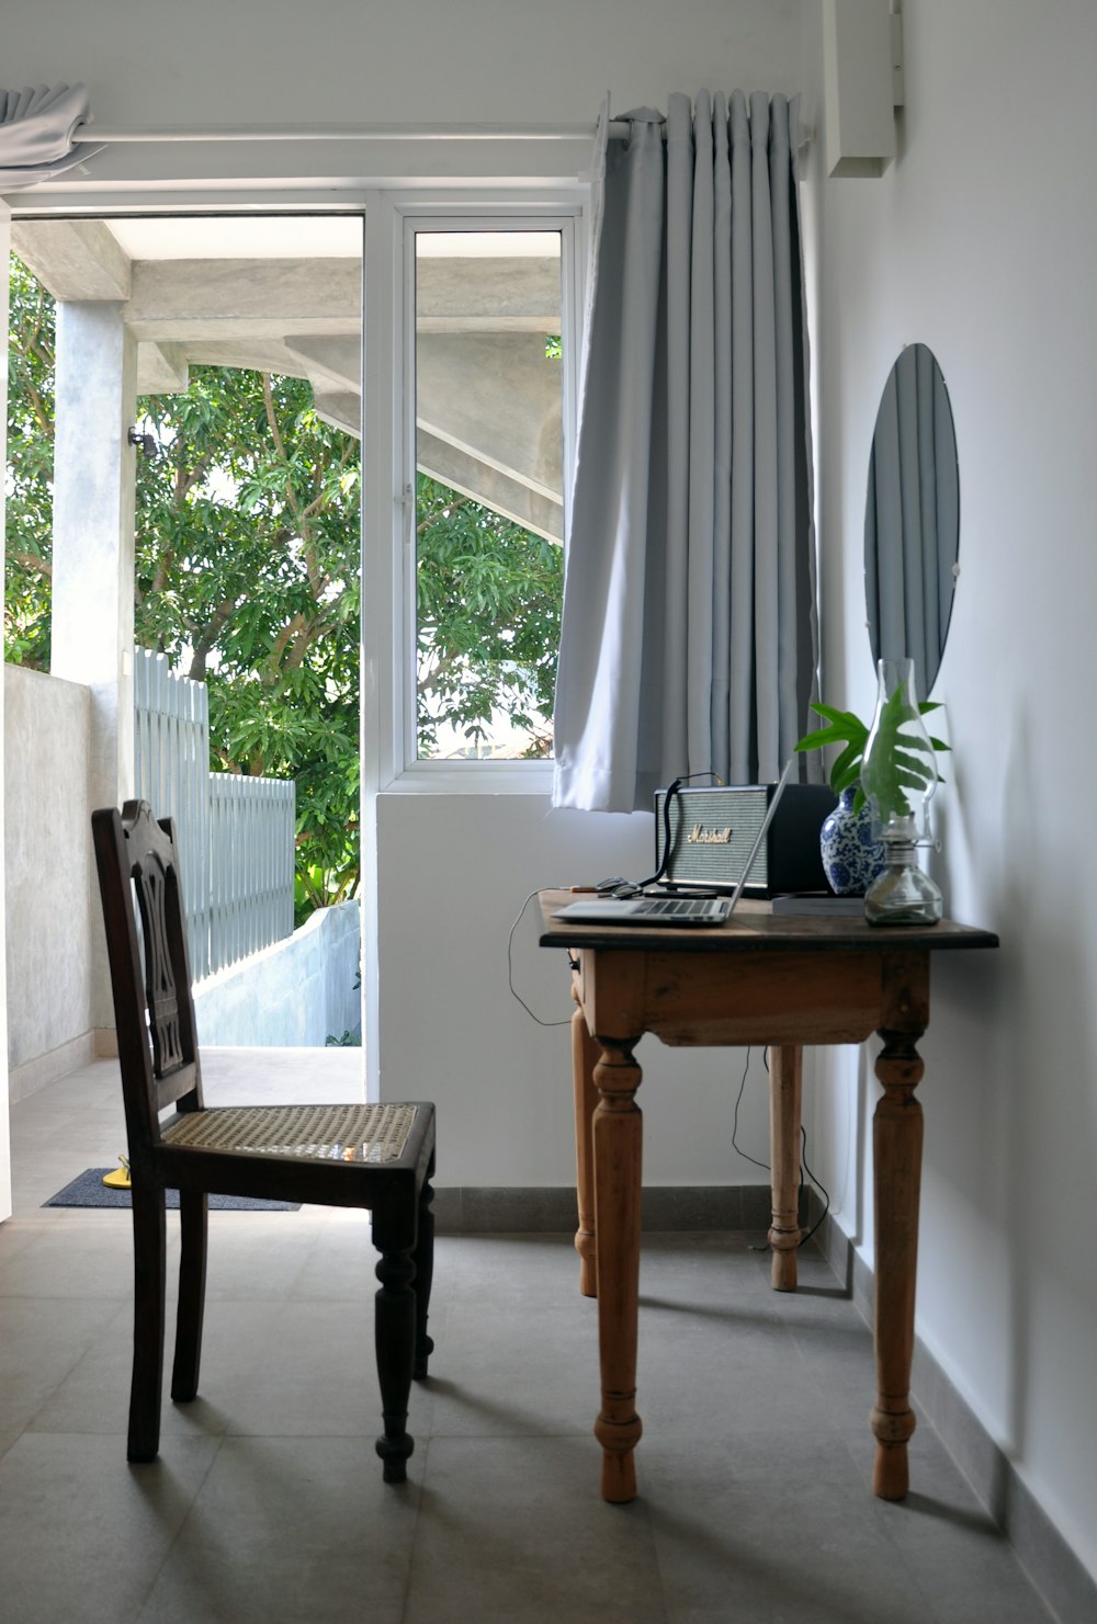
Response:
[[[671,96],[605,145],[556,806],[772,781],[816,695],[798,102]],[[598,151],[598,148],[596,148]],[[596,209],[598,214],[598,209]]]

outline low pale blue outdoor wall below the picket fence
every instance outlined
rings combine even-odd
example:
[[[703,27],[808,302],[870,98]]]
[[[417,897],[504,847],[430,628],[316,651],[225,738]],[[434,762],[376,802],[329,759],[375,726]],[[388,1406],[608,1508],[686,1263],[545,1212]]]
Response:
[[[195,986],[205,1047],[317,1047],[351,1033],[361,1039],[361,908],[319,908],[284,942]]]

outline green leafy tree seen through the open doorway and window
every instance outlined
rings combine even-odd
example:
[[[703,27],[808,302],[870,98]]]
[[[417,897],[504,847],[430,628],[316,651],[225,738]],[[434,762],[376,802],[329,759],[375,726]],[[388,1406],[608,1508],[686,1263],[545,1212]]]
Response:
[[[52,300],[11,260],[5,658],[49,669]],[[358,442],[297,378],[193,367],[138,403],[141,646],[210,690],[211,767],[294,778],[301,909],[359,883]],[[505,710],[548,752],[561,549],[418,477],[419,737]]]

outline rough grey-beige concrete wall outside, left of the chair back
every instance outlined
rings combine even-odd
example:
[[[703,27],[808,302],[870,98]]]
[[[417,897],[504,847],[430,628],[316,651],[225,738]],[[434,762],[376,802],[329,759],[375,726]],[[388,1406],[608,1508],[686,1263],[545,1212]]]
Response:
[[[102,934],[88,814],[91,693],[3,667],[8,1067],[21,1098],[91,1056]]]

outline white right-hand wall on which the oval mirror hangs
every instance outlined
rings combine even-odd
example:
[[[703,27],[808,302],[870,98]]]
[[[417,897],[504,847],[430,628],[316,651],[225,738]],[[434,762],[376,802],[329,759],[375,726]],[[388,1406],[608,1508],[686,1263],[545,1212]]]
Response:
[[[1097,1572],[1097,8],[904,13],[899,161],[822,182],[813,154],[824,695],[871,705],[868,448],[884,378],[921,341],[960,463],[939,879],[952,916],[1003,945],[934,965],[918,1330]],[[852,1056],[817,1083],[821,1171],[869,1249],[874,1085]]]

